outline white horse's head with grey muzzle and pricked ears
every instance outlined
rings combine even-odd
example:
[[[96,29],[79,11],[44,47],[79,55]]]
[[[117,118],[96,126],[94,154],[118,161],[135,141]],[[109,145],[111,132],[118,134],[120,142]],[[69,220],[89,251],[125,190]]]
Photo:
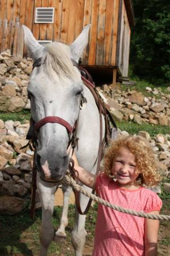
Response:
[[[23,25],[24,42],[34,61],[28,82],[31,116],[36,129],[36,165],[45,181],[60,181],[68,169],[69,135],[77,120],[83,84],[81,74],[73,66],[88,44],[89,25],[72,45],[52,42],[43,47]],[[48,117],[48,118],[47,118]],[[57,117],[62,122],[46,122]],[[41,125],[41,120],[45,120]]]

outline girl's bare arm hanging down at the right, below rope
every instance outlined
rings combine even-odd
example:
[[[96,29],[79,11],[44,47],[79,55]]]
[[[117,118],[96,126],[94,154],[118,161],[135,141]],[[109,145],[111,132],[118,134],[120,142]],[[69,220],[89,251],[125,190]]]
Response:
[[[159,211],[152,211],[150,214],[159,214]],[[145,256],[157,256],[157,234],[159,221],[155,219],[145,219]]]

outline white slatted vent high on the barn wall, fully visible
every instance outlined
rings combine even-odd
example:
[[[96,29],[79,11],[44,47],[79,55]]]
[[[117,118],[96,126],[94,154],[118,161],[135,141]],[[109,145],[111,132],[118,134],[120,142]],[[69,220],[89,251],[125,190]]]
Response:
[[[37,7],[35,9],[35,23],[53,23],[54,7]]]

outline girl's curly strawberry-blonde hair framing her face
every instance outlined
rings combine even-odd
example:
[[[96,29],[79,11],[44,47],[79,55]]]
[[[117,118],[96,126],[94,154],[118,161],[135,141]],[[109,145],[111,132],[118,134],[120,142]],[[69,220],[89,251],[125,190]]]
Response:
[[[113,159],[117,156],[121,147],[126,147],[136,159],[136,171],[139,174],[137,181],[142,185],[154,186],[160,181],[157,173],[157,161],[154,151],[146,139],[140,136],[128,136],[111,142],[105,152],[103,160],[103,172],[111,175]]]

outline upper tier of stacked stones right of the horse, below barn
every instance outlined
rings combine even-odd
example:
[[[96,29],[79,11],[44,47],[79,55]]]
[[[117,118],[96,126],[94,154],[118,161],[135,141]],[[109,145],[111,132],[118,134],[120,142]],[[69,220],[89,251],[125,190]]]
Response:
[[[150,97],[130,89],[121,91],[117,88],[113,93],[112,87],[107,85],[103,85],[102,89],[98,90],[104,94],[106,103],[111,107],[113,118],[117,121],[124,119],[139,125],[151,123],[170,127],[170,87],[167,88],[167,93],[161,92],[159,88],[152,90],[146,87]],[[159,95],[159,98],[156,95]]]

